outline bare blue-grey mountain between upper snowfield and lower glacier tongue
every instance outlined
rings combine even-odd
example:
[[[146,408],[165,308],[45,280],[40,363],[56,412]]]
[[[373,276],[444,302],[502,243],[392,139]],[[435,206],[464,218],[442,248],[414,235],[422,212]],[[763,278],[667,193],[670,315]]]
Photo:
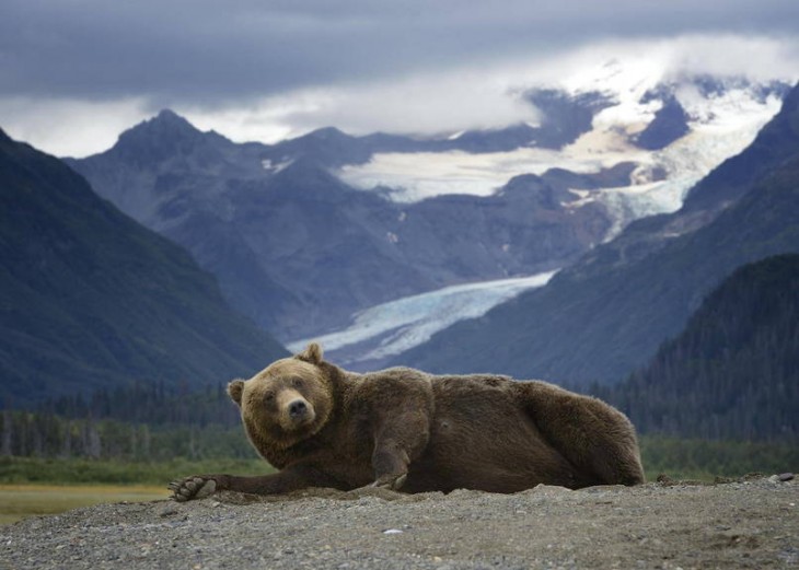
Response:
[[[517,176],[490,196],[414,203],[352,188],[329,167],[349,139],[324,129],[281,144],[286,159],[163,112],[107,152],[68,162],[100,195],[189,249],[232,306],[282,340],[345,326],[397,298],[560,267],[611,228],[602,205],[572,206],[579,196],[557,172]],[[599,187],[623,175],[602,170],[574,182]]]

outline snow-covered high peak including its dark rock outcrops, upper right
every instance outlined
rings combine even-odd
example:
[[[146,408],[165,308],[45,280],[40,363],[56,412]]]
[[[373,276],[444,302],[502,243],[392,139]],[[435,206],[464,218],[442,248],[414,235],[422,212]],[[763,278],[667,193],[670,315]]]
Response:
[[[396,201],[413,202],[451,193],[489,196],[525,173],[557,167],[587,174],[629,162],[635,168],[624,185],[578,191],[580,200],[571,203],[599,201],[610,209],[611,239],[635,219],[679,209],[688,188],[754,140],[788,88],[740,77],[668,77],[613,60],[559,85],[528,90],[525,97],[544,109],[542,125],[519,127],[529,137],[512,150],[459,149],[454,143],[476,136],[460,133],[449,141],[450,150],[378,152],[368,162],[341,166],[337,175],[355,187],[381,188]],[[542,144],[535,136],[542,130],[564,133],[561,146],[552,139]]]

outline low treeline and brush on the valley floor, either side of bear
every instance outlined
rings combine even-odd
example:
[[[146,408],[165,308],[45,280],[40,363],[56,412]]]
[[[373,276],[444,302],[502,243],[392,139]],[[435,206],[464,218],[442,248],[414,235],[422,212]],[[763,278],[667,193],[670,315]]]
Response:
[[[155,470],[151,472],[147,465],[181,461],[206,462],[211,470],[221,468],[213,465],[230,461],[248,461],[247,469],[254,473],[268,468],[247,442],[241,426],[148,426],[10,410],[2,414],[1,426],[0,451],[8,461],[0,460],[0,481],[57,481],[65,477],[63,480],[73,481],[134,482],[167,476],[163,469],[152,467]],[[642,435],[640,446],[649,479],[660,473],[711,480],[719,475],[799,472],[799,446],[789,443]],[[49,463],[40,462],[53,461],[60,462],[57,474],[36,473],[51,468]]]

